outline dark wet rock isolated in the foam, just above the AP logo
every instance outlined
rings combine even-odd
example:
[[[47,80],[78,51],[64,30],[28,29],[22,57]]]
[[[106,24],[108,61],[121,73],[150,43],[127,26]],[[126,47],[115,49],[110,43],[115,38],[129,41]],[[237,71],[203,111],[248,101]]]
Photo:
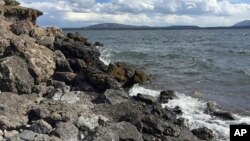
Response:
[[[223,120],[235,120],[235,117],[232,113],[217,108],[217,104],[214,102],[207,103],[207,109],[205,113],[219,117]]]

